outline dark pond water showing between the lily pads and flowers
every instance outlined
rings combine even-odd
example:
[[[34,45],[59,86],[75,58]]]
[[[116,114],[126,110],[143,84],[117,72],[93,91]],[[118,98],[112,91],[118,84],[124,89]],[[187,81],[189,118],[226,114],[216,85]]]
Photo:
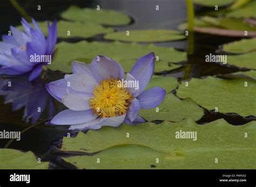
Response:
[[[117,30],[130,30],[130,29],[177,29],[181,22],[186,20],[186,3],[185,0],[95,0],[95,1],[71,1],[71,0],[57,0],[57,1],[18,1],[29,13],[29,15],[36,20],[53,20],[60,19],[60,12],[69,8],[70,5],[77,5],[80,7],[96,8],[100,5],[102,9],[113,9],[124,11],[128,13],[133,19],[130,25],[115,27]],[[41,5],[41,11],[37,10],[37,5]],[[156,5],[159,5],[159,11],[155,10]],[[9,31],[10,25],[19,25],[21,21],[21,15],[17,10],[9,3],[9,1],[0,2],[0,16],[1,27],[0,34],[6,34]],[[202,7],[196,6],[197,11],[201,11]],[[187,80],[190,78],[204,78],[207,75],[226,74],[239,71],[235,67],[227,67],[224,65],[218,65],[214,63],[205,63],[205,55],[209,53],[215,53],[221,44],[228,43],[230,41],[239,40],[240,38],[211,36],[208,34],[194,34],[194,53],[188,56],[188,61],[183,62],[183,67],[165,72],[167,76],[177,77],[179,80]],[[69,42],[76,42],[81,39],[69,39]],[[87,39],[88,41],[102,39],[102,36],[96,36],[94,38]],[[59,42],[60,40],[58,40]],[[156,43],[159,46],[172,46],[177,50],[187,51],[187,40],[179,40],[165,43]],[[54,62],[53,62],[54,63]],[[23,85],[28,84],[22,79],[17,79],[17,92],[20,99],[18,102],[29,102],[29,98],[36,98],[42,100],[47,96],[42,96],[38,92],[33,92],[36,89],[43,90],[46,82],[51,82],[63,78],[64,74],[61,72],[48,72],[44,79],[41,80],[42,84],[29,85],[25,87]],[[15,79],[12,79],[15,82]],[[0,80],[0,86],[3,80]],[[31,88],[32,86],[32,88]],[[35,87],[35,90],[33,90]],[[32,92],[29,92],[29,89]],[[5,92],[8,92],[8,88],[3,88]],[[28,92],[26,92],[28,90]],[[214,93],[213,93],[214,94]],[[210,97],[211,95],[209,95]],[[17,98],[16,98],[17,99]],[[39,121],[49,119],[49,113],[53,115],[63,110],[65,107],[58,103],[57,108],[52,108],[49,103],[49,98],[45,99],[45,110]],[[56,101],[54,101],[56,102]],[[12,112],[12,103],[4,104],[3,96],[0,97],[0,130],[10,131],[22,131],[25,128],[31,126],[31,122],[26,123],[23,119],[24,107]],[[231,124],[240,125],[247,123],[251,120],[255,120],[255,117],[247,117],[247,119],[236,115],[224,115],[219,113],[211,113],[205,110],[205,115],[197,121],[199,124],[211,122],[220,118],[224,118]],[[28,151],[31,150],[37,156],[43,158],[46,161],[51,161],[51,168],[73,168],[72,165],[65,163],[59,159],[57,152],[53,153],[53,149],[60,147],[62,137],[68,133],[68,127],[52,127],[44,122],[38,124],[35,127],[25,131],[21,136],[21,141],[14,141],[10,144],[9,148]],[[72,136],[76,135],[76,132],[71,132]],[[3,148],[8,140],[1,140],[0,147]],[[66,153],[66,156],[69,156]]]

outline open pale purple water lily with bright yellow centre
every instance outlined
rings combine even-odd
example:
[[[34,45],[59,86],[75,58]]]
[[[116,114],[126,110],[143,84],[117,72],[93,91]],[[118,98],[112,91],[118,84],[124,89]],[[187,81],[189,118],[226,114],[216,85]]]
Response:
[[[139,87],[125,87],[123,67],[105,56],[98,56],[91,65],[72,62],[73,74],[46,85],[48,92],[69,109],[58,113],[51,124],[71,125],[71,130],[118,127],[121,123],[145,122],[138,115],[140,108],[157,107],[166,91],[161,87],[145,88],[154,72],[154,53],[140,58],[127,73],[126,82],[138,81]]]

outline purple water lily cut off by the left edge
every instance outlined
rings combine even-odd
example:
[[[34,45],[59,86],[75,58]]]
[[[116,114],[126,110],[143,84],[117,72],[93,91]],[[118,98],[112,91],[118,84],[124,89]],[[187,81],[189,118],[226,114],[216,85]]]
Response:
[[[12,35],[3,35],[0,43],[0,74],[21,75],[28,74],[29,80],[35,80],[43,70],[43,65],[49,61],[31,61],[31,57],[53,56],[57,42],[57,22],[50,26],[48,22],[48,38],[36,21],[32,19],[35,29],[24,18],[21,21],[24,32],[10,26]]]

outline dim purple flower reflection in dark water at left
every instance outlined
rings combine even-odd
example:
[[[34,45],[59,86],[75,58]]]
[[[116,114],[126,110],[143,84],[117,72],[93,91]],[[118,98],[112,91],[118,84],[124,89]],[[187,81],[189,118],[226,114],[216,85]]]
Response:
[[[42,114],[52,117],[56,110],[54,99],[40,78],[30,82],[25,76],[0,77],[0,95],[4,96],[4,104],[12,103],[12,111],[24,108],[23,120],[26,123],[30,120],[32,124],[36,123]]]

